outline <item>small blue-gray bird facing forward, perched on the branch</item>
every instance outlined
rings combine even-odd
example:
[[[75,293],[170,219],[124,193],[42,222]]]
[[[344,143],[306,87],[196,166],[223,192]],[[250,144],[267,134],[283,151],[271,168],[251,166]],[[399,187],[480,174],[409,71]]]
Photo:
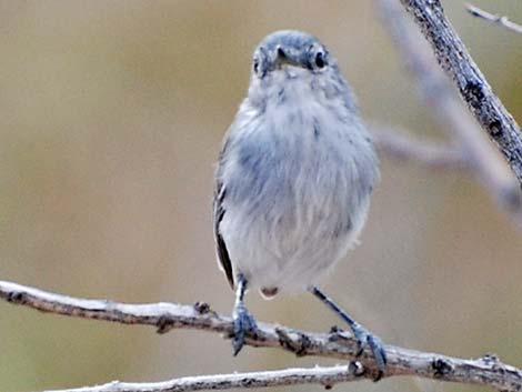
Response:
[[[215,172],[217,253],[235,289],[234,355],[257,328],[243,303],[247,288],[264,298],[308,290],[348,322],[361,352],[371,348],[382,375],[381,341],[315,285],[357,243],[378,178],[335,59],[304,32],[265,37]]]

